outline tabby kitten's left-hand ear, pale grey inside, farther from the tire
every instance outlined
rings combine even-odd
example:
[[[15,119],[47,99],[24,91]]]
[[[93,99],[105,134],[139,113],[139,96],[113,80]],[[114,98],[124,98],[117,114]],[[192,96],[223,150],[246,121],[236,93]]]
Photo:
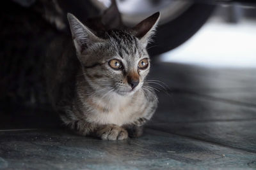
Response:
[[[100,39],[85,25],[83,25],[74,15],[71,13],[67,14],[68,22],[70,25],[70,31],[76,50],[78,53],[83,53],[88,46],[93,43],[100,43],[103,39]]]

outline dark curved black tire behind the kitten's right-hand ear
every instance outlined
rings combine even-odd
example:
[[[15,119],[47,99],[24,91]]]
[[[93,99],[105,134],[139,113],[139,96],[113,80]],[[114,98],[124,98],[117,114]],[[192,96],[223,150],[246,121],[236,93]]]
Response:
[[[192,4],[179,17],[157,27],[153,43],[148,45],[150,55],[159,55],[181,45],[193,36],[207,19],[215,6],[212,4]]]

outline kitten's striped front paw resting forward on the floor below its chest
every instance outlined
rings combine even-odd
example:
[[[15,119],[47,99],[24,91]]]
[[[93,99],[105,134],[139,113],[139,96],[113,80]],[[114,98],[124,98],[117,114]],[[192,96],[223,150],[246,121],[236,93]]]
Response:
[[[128,138],[128,132],[118,125],[106,125],[97,131],[97,136],[104,140],[123,140]]]

